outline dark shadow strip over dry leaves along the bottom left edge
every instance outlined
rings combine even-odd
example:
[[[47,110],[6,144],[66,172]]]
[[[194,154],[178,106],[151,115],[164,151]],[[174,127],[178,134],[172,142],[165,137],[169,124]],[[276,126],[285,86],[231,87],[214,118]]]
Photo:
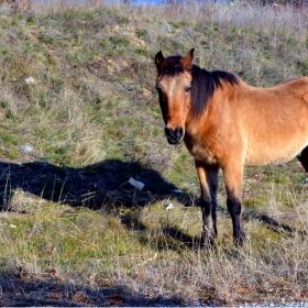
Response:
[[[28,277],[26,273],[0,274],[1,307],[145,307],[182,306],[176,297],[140,294],[127,286],[81,286],[64,280],[56,273],[41,273]]]

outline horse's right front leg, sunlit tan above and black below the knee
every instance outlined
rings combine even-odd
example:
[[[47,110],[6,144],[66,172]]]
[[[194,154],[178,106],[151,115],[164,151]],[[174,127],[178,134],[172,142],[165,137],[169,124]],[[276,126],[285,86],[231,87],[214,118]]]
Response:
[[[243,166],[226,164],[222,167],[227,188],[227,207],[233,224],[234,243],[242,246],[245,241],[245,232],[242,223],[242,179]]]

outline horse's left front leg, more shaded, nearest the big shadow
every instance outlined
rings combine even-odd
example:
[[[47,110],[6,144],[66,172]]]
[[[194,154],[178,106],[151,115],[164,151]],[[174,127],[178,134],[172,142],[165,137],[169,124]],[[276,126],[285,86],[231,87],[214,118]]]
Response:
[[[217,237],[216,208],[219,167],[210,166],[197,160],[195,163],[201,188],[201,246],[212,245]]]

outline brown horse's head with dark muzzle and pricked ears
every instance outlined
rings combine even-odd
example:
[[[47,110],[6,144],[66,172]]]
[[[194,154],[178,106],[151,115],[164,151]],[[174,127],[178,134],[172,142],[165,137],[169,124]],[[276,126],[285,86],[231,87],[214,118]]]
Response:
[[[168,143],[180,143],[185,134],[185,124],[191,107],[191,63],[194,50],[185,57],[165,58],[162,52],[155,56],[157,67],[156,89],[165,121],[165,134]]]

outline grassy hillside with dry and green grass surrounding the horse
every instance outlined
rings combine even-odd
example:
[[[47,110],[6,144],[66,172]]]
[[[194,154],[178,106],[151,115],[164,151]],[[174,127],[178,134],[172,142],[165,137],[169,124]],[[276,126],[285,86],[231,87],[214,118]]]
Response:
[[[0,10],[1,306],[308,300],[307,174],[246,170],[242,250],[221,180],[218,246],[196,249],[197,175],[163,135],[153,64],[195,47],[200,66],[255,86],[308,75],[307,8]]]

